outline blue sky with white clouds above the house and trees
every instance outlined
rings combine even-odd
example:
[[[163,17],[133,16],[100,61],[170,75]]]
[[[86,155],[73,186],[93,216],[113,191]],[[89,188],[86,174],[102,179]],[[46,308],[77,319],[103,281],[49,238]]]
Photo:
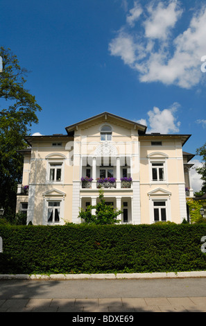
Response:
[[[205,8],[200,0],[0,0],[1,46],[31,71],[26,87],[42,106],[31,133],[65,134],[108,111],[148,132],[191,134],[184,151],[195,154],[206,141]]]

